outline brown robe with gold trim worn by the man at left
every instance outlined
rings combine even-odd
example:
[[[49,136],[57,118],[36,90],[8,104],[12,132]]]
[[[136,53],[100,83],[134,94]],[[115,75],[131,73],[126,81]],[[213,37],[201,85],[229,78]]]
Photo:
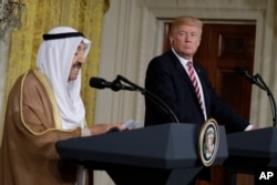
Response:
[[[61,130],[51,86],[37,70],[21,75],[10,91],[0,148],[1,185],[74,184],[74,162],[59,158],[55,143],[81,136]]]

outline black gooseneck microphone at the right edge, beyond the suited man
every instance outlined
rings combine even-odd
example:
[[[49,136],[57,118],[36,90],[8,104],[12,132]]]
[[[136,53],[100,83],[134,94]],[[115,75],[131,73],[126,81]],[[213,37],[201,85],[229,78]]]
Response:
[[[267,84],[265,83],[265,81],[263,80],[263,78],[257,73],[255,75],[250,75],[246,70],[244,70],[242,66],[237,66],[235,69],[235,71],[243,75],[244,78],[248,79],[248,81],[252,84],[256,84],[257,86],[259,86],[261,90],[266,91],[268,97],[269,97],[269,102],[270,102],[270,106],[271,106],[271,111],[273,111],[273,125],[276,126],[276,115],[277,115],[277,110],[276,110],[276,101],[274,99],[274,95],[271,93],[271,91],[269,90],[269,88],[267,86]]]

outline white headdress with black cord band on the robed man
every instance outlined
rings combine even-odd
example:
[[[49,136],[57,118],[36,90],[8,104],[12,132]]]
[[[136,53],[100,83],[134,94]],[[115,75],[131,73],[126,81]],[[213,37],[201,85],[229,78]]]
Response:
[[[58,27],[43,34],[37,65],[49,79],[62,117],[62,127],[72,130],[84,126],[85,109],[80,96],[81,72],[78,79],[69,82],[69,74],[78,45],[83,41],[85,56],[91,41],[76,30],[69,27]]]

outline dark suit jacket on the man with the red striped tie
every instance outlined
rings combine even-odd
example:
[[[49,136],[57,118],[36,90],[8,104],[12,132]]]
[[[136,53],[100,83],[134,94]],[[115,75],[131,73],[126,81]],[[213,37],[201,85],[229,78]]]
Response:
[[[194,68],[202,83],[207,117],[214,117],[229,131],[244,131],[249,123],[216,94],[204,68],[195,61]],[[189,76],[172,50],[150,62],[145,89],[163,100],[181,123],[203,124],[205,122]],[[173,122],[161,105],[153,103],[147,97],[145,97],[145,126]]]

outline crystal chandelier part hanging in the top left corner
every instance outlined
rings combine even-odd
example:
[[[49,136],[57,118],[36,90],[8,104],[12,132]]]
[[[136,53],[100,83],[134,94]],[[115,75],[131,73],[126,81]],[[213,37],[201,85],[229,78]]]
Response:
[[[0,0],[0,40],[7,31],[21,28],[21,14],[25,10],[23,0]]]

